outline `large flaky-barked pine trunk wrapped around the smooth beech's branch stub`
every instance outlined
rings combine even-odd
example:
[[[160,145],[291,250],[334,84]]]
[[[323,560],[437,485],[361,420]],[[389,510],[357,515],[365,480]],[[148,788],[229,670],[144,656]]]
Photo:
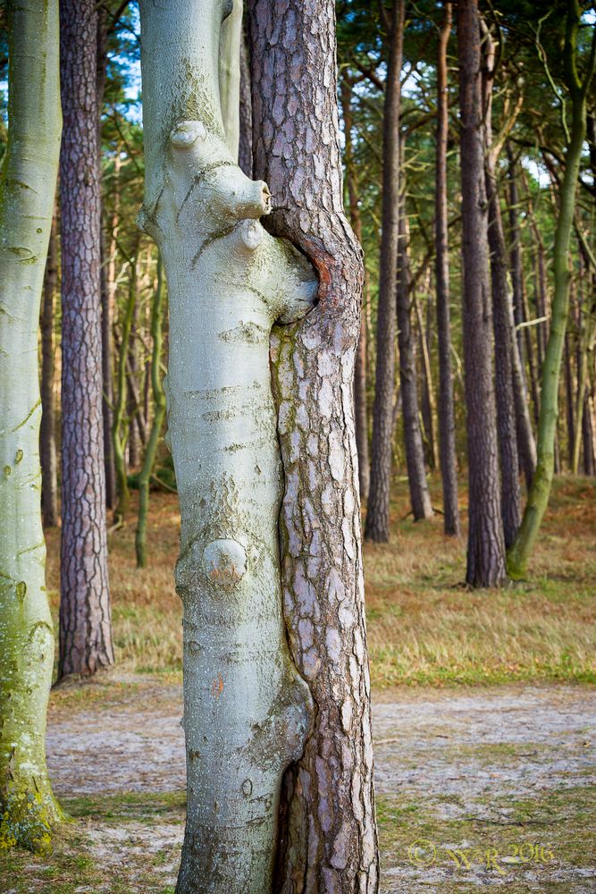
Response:
[[[363,269],[342,204],[334,8],[248,3],[255,171],[273,192],[273,231],[305,252],[320,282],[317,308],[272,343],[285,616],[318,709],[283,789],[282,894],[378,885],[352,400]]]

